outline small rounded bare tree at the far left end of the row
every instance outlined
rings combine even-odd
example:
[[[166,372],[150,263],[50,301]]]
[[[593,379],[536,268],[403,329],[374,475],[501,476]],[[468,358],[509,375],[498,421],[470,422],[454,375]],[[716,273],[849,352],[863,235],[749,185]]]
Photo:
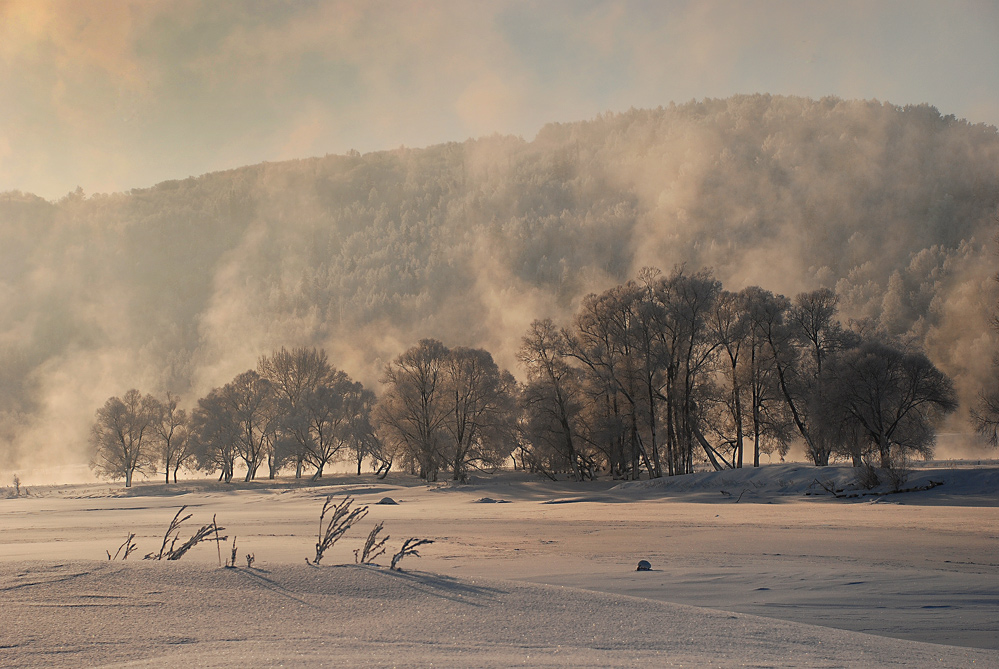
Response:
[[[155,417],[156,400],[134,388],[120,398],[108,398],[90,430],[93,470],[99,476],[124,478],[125,487],[132,485],[135,472],[149,471],[155,460]]]

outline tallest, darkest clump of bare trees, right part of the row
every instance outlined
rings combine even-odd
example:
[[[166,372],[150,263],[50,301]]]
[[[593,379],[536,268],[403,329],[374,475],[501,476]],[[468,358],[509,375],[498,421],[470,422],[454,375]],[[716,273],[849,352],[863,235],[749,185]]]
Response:
[[[844,328],[836,305],[828,290],[789,300],[646,269],[587,296],[566,328],[535,321],[520,351],[524,467],[655,478],[742,467],[746,448],[759,466],[794,439],[819,466],[929,457],[957,408],[951,379],[883,329]]]

